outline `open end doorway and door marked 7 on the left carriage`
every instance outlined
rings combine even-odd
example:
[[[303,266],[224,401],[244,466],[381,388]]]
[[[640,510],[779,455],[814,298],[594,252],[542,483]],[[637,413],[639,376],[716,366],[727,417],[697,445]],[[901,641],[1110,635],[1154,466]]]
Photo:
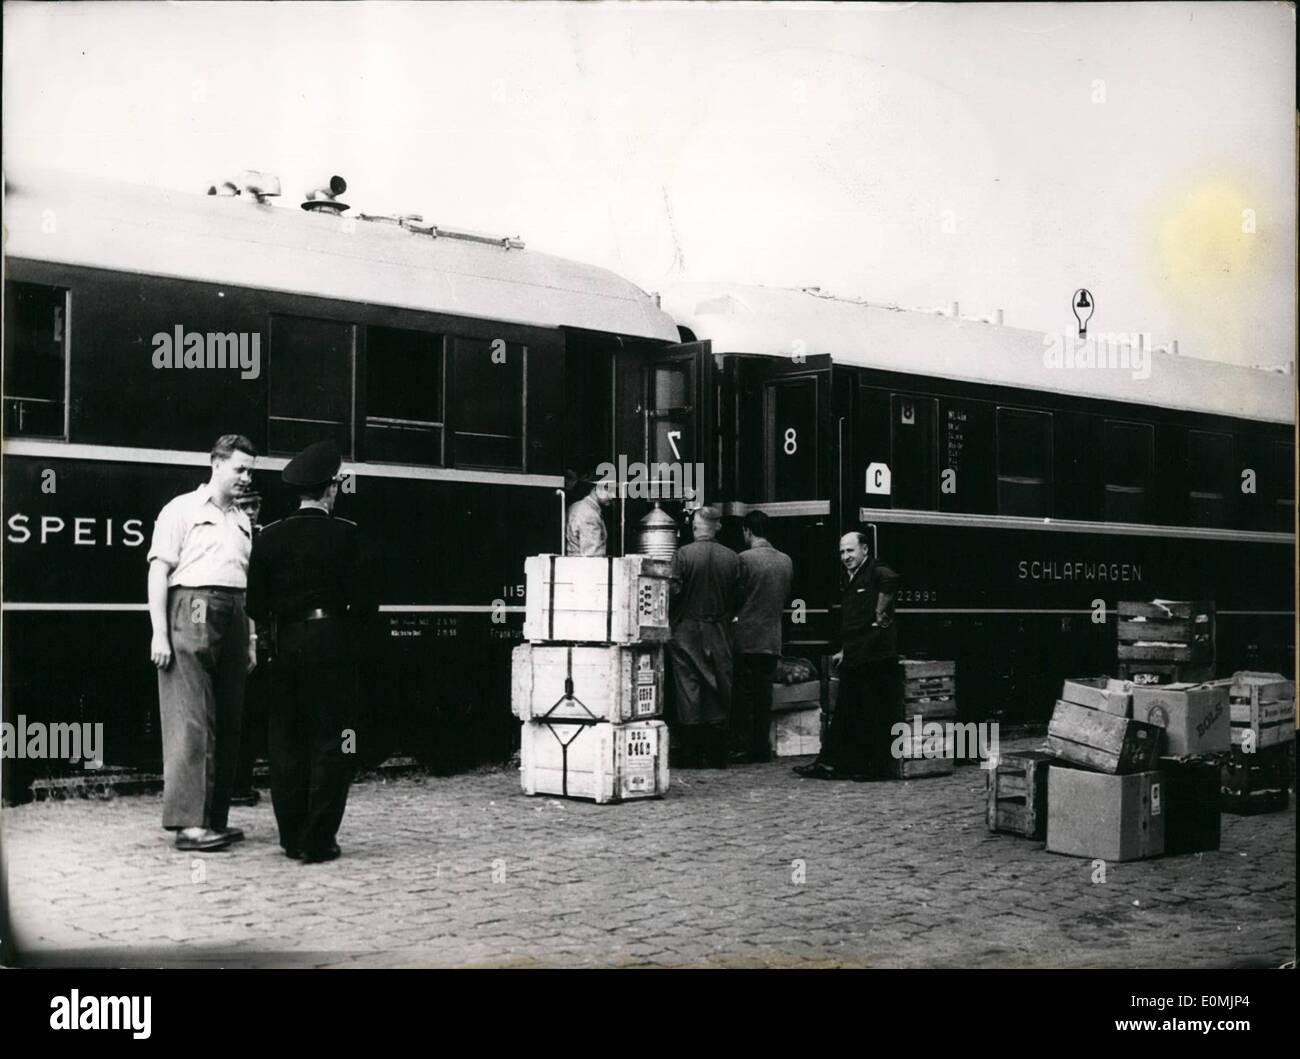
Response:
[[[623,554],[637,550],[641,518],[655,503],[679,521],[688,504],[712,503],[719,466],[710,343],[668,346],[646,355],[640,370],[628,366],[619,383]]]

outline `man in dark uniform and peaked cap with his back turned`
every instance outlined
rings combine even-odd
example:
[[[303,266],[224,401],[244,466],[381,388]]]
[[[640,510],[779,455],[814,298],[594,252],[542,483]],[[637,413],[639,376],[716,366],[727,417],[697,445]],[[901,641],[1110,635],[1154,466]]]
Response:
[[[261,531],[248,569],[250,613],[276,622],[268,750],[280,845],[308,863],[339,855],[356,755],[352,650],[369,616],[356,524],[333,515],[341,463],[320,442],[285,468],[299,508]]]

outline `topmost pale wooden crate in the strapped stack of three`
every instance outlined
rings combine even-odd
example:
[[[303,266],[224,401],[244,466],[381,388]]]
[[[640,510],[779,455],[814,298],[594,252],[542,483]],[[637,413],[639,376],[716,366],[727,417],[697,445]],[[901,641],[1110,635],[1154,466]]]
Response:
[[[524,563],[524,639],[642,643],[672,635],[672,563],[664,559],[533,555]]]

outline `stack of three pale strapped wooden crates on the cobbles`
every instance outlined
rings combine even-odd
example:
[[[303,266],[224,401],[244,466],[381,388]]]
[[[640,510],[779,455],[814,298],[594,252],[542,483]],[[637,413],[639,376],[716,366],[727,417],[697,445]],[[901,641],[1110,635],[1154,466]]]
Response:
[[[671,564],[537,555],[524,570],[529,642],[511,659],[524,793],[598,803],[662,795]]]

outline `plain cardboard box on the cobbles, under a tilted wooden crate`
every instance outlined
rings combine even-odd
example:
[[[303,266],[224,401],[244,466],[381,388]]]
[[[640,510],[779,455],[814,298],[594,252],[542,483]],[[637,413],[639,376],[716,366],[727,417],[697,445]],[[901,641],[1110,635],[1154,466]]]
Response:
[[[1165,852],[1162,794],[1160,772],[1105,776],[1053,765],[1048,771],[1048,850],[1102,860],[1160,856]]]

